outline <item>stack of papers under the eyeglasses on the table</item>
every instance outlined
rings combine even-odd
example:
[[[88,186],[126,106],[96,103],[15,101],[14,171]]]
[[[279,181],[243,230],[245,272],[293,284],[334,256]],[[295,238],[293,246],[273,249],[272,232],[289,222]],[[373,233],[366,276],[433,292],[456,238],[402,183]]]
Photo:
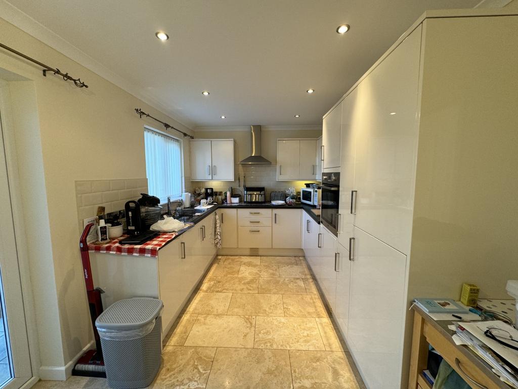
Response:
[[[518,331],[500,321],[458,323],[456,328],[457,344],[466,344],[485,360],[503,382],[518,388],[518,351],[513,350],[484,335],[487,328],[500,328],[508,331],[511,339],[518,339]],[[505,339],[501,339],[505,341]],[[508,342],[509,344],[516,342]]]

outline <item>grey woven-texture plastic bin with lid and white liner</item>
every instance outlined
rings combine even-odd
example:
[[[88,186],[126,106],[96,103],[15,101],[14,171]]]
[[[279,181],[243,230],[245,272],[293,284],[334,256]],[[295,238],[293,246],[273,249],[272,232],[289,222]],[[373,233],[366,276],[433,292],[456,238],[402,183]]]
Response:
[[[137,297],[117,301],[97,317],[108,386],[146,387],[160,369],[162,300]]]

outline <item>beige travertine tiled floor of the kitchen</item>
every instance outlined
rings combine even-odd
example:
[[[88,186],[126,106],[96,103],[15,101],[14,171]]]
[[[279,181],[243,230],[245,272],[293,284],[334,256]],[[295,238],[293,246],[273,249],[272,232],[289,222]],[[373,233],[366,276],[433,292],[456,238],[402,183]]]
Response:
[[[153,389],[364,387],[303,257],[218,257],[166,342]],[[73,377],[35,388],[107,385]]]

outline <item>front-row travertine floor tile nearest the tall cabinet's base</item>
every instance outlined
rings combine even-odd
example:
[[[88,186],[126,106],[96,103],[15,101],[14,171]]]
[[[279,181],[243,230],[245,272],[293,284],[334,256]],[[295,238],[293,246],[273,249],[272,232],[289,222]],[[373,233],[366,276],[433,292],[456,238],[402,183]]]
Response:
[[[341,352],[290,350],[294,389],[357,389],[358,384]]]

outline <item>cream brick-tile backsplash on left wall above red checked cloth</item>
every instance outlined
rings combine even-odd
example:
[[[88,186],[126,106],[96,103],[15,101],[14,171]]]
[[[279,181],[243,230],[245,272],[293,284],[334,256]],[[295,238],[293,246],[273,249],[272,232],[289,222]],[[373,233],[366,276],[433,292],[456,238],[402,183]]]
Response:
[[[76,181],[79,230],[83,219],[97,214],[98,206],[104,206],[105,213],[123,210],[126,201],[138,200],[140,193],[147,192],[147,178]]]

